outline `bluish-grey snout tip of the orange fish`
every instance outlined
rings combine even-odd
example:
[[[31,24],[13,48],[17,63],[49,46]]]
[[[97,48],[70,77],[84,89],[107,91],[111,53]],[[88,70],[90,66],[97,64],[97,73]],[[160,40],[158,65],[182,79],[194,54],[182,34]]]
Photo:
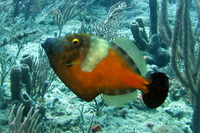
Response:
[[[42,43],[42,48],[45,50],[47,55],[54,54],[53,47],[55,45],[56,38],[47,38],[44,43]]]

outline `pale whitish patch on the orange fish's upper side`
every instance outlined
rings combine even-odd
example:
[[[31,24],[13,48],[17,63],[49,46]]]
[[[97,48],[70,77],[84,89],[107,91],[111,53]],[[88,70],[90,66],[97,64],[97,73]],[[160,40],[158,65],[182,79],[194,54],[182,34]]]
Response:
[[[91,36],[90,48],[81,64],[81,69],[85,72],[91,72],[95,66],[108,55],[108,49],[110,47],[111,44],[108,41],[99,37]]]

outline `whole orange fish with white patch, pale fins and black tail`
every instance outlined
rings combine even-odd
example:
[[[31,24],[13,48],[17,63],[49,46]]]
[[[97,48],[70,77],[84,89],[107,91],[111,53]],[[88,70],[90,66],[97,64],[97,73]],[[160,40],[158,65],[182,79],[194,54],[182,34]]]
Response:
[[[101,95],[108,105],[122,106],[136,99],[141,91],[144,104],[157,108],[167,98],[168,77],[157,72],[145,78],[144,57],[127,38],[109,42],[75,33],[47,38],[41,46],[61,81],[86,102]]]

